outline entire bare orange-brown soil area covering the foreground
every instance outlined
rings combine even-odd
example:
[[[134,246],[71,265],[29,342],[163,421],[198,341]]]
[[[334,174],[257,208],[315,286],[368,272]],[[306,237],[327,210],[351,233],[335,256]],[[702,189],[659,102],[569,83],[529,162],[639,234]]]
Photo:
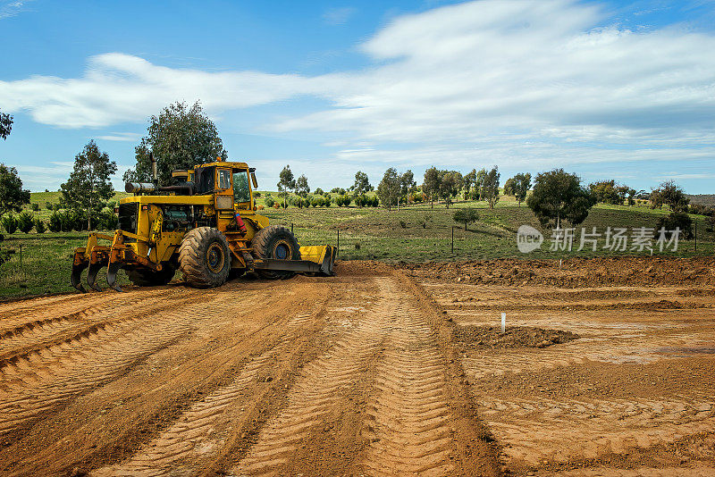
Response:
[[[0,304],[0,473],[715,474],[712,261],[634,260]]]

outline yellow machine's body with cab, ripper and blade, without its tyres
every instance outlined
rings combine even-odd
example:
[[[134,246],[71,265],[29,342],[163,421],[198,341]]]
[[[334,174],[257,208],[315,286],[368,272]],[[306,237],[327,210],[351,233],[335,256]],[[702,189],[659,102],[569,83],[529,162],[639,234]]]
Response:
[[[172,177],[178,185],[127,184],[128,190],[139,193],[120,200],[118,230],[113,236],[91,232],[87,246],[75,250],[71,275],[75,288],[84,291],[80,274],[85,268],[89,269],[88,284],[93,289],[99,289],[97,271],[103,266],[108,266],[107,281],[114,289],[119,289],[116,272],[122,268],[155,274],[165,267],[176,270],[181,243],[197,227],[223,234],[233,270],[263,268],[332,274],[336,251],[330,246],[299,247],[300,260],[257,256],[252,240],[269,222],[256,212],[257,180],[247,163],[206,163],[188,171],[175,171]],[[111,244],[99,245],[99,240]]]

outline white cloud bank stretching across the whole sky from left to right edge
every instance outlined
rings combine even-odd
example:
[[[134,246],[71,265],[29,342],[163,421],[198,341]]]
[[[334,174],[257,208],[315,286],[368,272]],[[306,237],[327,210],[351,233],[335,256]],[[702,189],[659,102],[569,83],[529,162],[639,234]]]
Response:
[[[263,128],[315,131],[341,148],[336,160],[382,168],[712,160],[715,37],[603,23],[591,3],[484,0],[396,18],[361,46],[374,60],[361,71],[206,72],[101,54],[81,78],[0,81],[0,108],[81,128],[143,122],[176,100],[217,114],[315,96],[331,106]]]

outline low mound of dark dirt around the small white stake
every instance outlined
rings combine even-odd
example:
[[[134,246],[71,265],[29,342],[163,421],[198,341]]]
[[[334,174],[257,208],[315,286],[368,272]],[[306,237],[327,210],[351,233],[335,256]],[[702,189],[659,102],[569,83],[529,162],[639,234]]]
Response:
[[[508,327],[504,333],[494,326],[456,326],[455,339],[469,347],[550,347],[578,339],[576,333],[560,330],[544,330],[527,326]]]

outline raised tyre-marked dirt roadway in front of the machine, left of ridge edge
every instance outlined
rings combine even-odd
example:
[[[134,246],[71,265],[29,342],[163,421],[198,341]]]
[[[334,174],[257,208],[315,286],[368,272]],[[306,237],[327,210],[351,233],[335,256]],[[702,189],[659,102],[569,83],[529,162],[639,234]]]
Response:
[[[492,475],[450,327],[407,279],[0,305],[4,475]]]

